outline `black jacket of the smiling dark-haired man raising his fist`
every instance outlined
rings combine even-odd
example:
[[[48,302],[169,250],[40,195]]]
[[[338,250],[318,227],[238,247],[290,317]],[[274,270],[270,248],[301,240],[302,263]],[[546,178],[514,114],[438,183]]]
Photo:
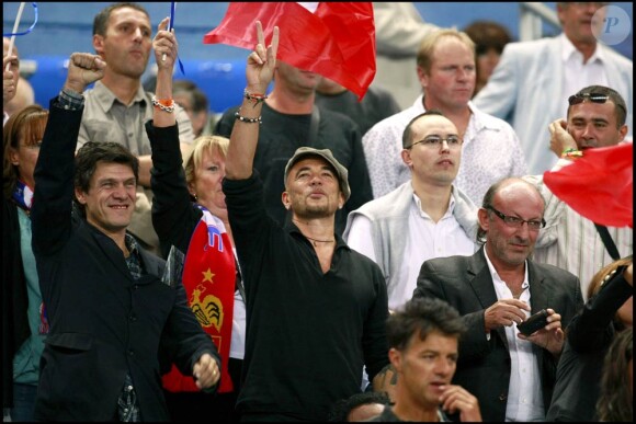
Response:
[[[182,285],[161,282],[163,260],[141,250],[134,279],[115,242],[72,213],[75,149],[82,110],[52,101],[35,168],[33,251],[50,331],[41,363],[38,421],[112,421],[129,373],[143,421],[168,421],[159,352],[184,375],[216,348]]]

